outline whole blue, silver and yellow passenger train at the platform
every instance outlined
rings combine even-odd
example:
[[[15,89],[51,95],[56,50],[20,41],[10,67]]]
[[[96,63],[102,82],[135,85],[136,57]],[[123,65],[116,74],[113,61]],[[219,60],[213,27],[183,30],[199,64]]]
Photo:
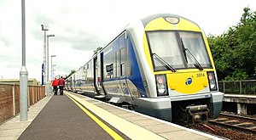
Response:
[[[224,98],[207,36],[176,14],[149,15],[127,25],[66,83],[73,92],[186,123],[217,118]]]

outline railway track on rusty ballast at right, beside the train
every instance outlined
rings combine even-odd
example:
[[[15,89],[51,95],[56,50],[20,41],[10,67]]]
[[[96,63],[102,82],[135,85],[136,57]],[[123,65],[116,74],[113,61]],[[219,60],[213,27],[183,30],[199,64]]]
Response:
[[[209,123],[256,135],[255,118],[221,113],[218,119],[209,120]]]

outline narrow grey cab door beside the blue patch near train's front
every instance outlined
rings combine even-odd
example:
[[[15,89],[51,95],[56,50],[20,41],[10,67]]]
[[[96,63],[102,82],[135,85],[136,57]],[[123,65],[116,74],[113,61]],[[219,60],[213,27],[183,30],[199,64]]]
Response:
[[[128,61],[128,51],[127,51],[127,41],[126,41],[126,34],[124,33],[119,37],[119,76],[120,76],[120,86],[123,90],[125,95],[126,102],[130,103],[133,100],[129,86],[128,86],[128,78],[127,78],[127,64],[129,65]]]

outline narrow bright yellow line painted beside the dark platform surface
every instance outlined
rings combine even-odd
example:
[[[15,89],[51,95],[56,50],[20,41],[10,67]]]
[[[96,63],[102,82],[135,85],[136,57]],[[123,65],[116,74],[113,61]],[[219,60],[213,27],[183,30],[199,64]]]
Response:
[[[79,106],[80,109],[82,109],[87,115],[90,116],[92,120],[94,120],[99,126],[101,126],[108,134],[113,137],[113,139],[124,139],[123,137],[119,136],[118,133],[114,132],[111,128],[109,128],[107,125],[105,125],[102,120],[99,120],[96,118],[95,115],[92,115],[87,109],[84,108],[81,104],[79,104],[76,100],[74,100],[72,97],[70,97],[68,94],[66,94],[68,98],[70,98],[75,104]]]

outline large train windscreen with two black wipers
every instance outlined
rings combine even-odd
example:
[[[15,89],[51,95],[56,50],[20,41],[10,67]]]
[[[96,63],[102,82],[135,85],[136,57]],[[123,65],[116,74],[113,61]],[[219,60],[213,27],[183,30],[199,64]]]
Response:
[[[200,32],[148,31],[154,70],[212,68],[206,45]]]

